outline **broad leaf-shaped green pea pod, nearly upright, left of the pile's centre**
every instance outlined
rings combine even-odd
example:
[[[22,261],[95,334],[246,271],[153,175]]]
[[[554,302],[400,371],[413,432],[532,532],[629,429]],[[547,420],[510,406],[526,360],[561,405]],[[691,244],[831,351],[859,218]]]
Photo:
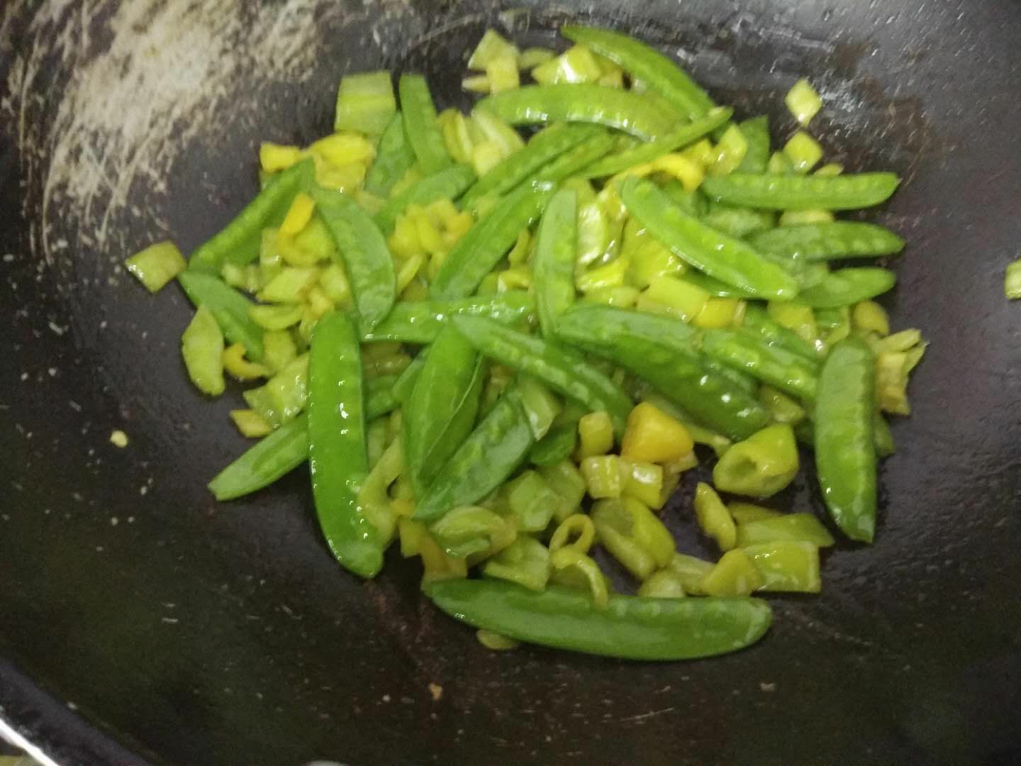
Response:
[[[472,432],[483,378],[475,347],[453,327],[445,327],[430,346],[401,420],[404,462],[416,495],[422,496]]]

